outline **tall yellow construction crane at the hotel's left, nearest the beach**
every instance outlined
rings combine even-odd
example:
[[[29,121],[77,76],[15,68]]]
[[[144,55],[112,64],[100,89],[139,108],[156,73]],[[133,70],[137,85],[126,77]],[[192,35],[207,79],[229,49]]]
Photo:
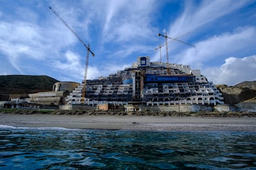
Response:
[[[85,42],[83,42],[83,40],[75,33],[75,31],[69,26],[67,25],[67,23],[65,22],[65,20],[63,20],[59,14],[53,9],[53,7],[49,6],[49,9],[53,12],[53,14],[55,14],[59,20],[61,20],[62,23],[64,23],[65,26],[67,26],[67,28],[69,29],[69,31],[71,31],[75,37],[77,39],[79,39],[80,42],[82,42],[83,46],[85,46],[85,48],[87,49],[87,57],[85,60],[85,75],[84,75],[84,79],[83,79],[83,91],[82,91],[82,99],[85,99],[85,87],[86,87],[86,80],[87,80],[87,70],[88,70],[88,61],[89,61],[89,54],[91,53],[92,56],[94,57],[94,53],[90,50],[90,46],[86,45]]]

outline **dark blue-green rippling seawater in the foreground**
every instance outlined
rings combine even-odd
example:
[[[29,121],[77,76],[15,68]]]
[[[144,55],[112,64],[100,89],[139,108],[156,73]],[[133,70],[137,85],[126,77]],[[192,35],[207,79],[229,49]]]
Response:
[[[0,126],[0,169],[256,169],[255,135]]]

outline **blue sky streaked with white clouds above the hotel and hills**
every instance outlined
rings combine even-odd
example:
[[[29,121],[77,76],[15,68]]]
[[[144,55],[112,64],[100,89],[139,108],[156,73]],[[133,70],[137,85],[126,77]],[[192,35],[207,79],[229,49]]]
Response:
[[[0,0],[0,75],[47,75],[82,83],[137,57],[201,70],[213,84],[256,80],[255,0]],[[184,42],[184,43],[183,43]],[[193,46],[191,46],[193,45]],[[195,46],[195,47],[194,47]]]

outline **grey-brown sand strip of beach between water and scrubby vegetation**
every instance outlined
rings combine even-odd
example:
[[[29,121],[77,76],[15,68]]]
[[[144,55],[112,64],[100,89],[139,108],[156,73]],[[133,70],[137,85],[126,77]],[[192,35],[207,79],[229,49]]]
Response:
[[[172,116],[19,115],[0,113],[0,124],[15,127],[64,127],[132,131],[252,131],[256,118],[199,118]]]

